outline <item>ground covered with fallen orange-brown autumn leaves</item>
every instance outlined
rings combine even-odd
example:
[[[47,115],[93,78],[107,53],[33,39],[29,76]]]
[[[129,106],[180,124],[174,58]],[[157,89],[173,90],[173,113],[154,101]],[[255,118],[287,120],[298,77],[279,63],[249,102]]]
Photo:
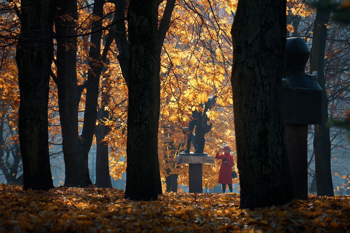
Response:
[[[124,199],[124,190],[0,184],[0,232],[350,232],[350,196],[294,199],[239,209],[239,194],[165,193]]]

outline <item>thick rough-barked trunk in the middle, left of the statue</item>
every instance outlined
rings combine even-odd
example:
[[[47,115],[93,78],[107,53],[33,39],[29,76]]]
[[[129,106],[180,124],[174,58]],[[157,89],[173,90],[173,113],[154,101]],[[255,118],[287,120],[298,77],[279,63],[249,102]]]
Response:
[[[125,198],[135,201],[156,200],[162,194],[158,162],[160,79],[157,24],[158,1],[130,1]]]

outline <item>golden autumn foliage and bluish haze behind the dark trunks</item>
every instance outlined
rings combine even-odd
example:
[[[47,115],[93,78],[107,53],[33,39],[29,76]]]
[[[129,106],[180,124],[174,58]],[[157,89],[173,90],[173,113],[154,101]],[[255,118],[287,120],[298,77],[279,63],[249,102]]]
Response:
[[[97,1],[96,1],[97,2]],[[113,3],[103,5],[100,15],[92,14],[93,5],[86,1],[78,1],[76,15],[66,15],[61,12],[60,19],[76,27],[76,40],[64,41],[61,50],[75,52],[77,68],[75,70],[75,85],[82,85],[81,99],[77,111],[77,129],[83,131],[86,89],[84,82],[89,75],[96,75],[96,68],[101,68],[99,80],[98,119],[96,121],[93,146],[89,152],[89,174],[92,183],[98,177],[106,179],[106,175],[96,170],[97,161],[106,156],[106,150],[97,152],[97,147],[108,147],[109,175],[112,182],[101,183],[99,187],[125,188],[126,169],[126,119],[127,119],[127,87],[123,78],[123,68],[120,61],[123,51],[120,44],[112,42],[105,49],[108,30],[101,30],[94,44],[90,37],[93,27],[106,27],[113,21],[116,10]],[[1,148],[0,148],[0,181],[8,184],[21,184],[22,161],[18,138],[18,108],[19,87],[18,68],[15,61],[16,42],[20,30],[18,17],[19,1],[3,1],[1,10]],[[119,7],[119,6],[118,6]],[[207,134],[204,152],[214,155],[218,147],[228,144],[235,154],[235,130],[233,124],[232,89],[230,84],[232,65],[231,25],[235,15],[237,1],[181,1],[174,5],[169,29],[161,50],[161,107],[159,118],[159,163],[163,191],[176,191],[177,187],[186,191],[188,185],[187,167],[176,165],[174,156],[184,148],[186,127],[190,113],[200,107],[208,96],[217,95],[214,109],[208,113],[213,124],[212,131]],[[316,20],[316,6],[310,6],[303,1],[287,1],[287,37],[297,36],[304,39],[311,48],[313,29]],[[160,3],[159,15],[165,12],[166,2]],[[116,16],[114,16],[116,17]],[[73,20],[72,20],[73,19]],[[96,25],[100,23],[100,25]],[[123,23],[124,24],[124,23]],[[62,24],[64,25],[64,23]],[[118,27],[119,24],[115,24]],[[324,24],[327,30],[324,54],[325,89],[328,96],[328,113],[331,117],[346,118],[349,115],[349,24],[334,22]],[[125,27],[125,24],[124,24]],[[63,30],[67,30],[64,29]],[[243,29],[244,30],[244,29]],[[85,35],[86,34],[86,35]],[[123,35],[115,35],[117,41]],[[59,38],[58,38],[59,39]],[[96,38],[95,38],[96,39]],[[57,43],[57,40],[55,40]],[[76,44],[75,44],[76,43]],[[124,42],[125,43],[125,42]],[[99,48],[99,55],[104,54],[105,60],[90,56],[92,48]],[[57,50],[57,44],[55,49]],[[52,78],[49,94],[49,151],[52,179],[54,186],[64,184],[65,169],[62,151],[62,132],[58,110],[58,87],[56,63],[59,62],[55,51],[55,62],[52,63]],[[120,59],[118,59],[118,58]],[[62,61],[63,62],[63,61]],[[69,61],[66,61],[69,62]],[[307,65],[308,72],[310,64]],[[91,71],[91,72],[89,72]],[[73,74],[74,75],[74,74]],[[57,82],[57,83],[56,83]],[[235,89],[233,88],[233,91]],[[253,133],[253,132],[252,132]],[[326,135],[328,136],[328,135]],[[348,134],[342,128],[331,127],[329,130],[331,143],[330,160],[332,172],[332,189],[336,194],[349,194],[349,141]],[[314,127],[308,127],[308,183],[309,190],[315,188],[315,153]],[[139,149],[142,154],[142,148]],[[104,153],[104,154],[100,154]],[[237,161],[237,158],[235,158]],[[104,160],[105,162],[106,160]],[[204,191],[213,190],[216,186],[220,162],[214,166],[203,166]],[[278,174],[276,174],[278,176]],[[167,179],[168,177],[168,179]],[[175,182],[176,181],[176,182]],[[234,180],[237,184],[238,179]],[[167,188],[168,183],[168,188]],[[204,187],[204,188],[205,188]],[[237,192],[239,187],[236,186]],[[215,189],[214,189],[215,190]],[[214,191],[213,190],[213,191]]]

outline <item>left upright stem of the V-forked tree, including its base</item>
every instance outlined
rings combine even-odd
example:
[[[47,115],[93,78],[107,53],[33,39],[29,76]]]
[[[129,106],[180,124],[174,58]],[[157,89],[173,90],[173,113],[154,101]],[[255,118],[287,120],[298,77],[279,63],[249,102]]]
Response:
[[[92,184],[84,153],[84,140],[79,137],[78,107],[82,88],[77,86],[77,38],[62,37],[76,34],[77,1],[58,3],[55,19],[57,38],[57,80],[59,117],[65,163],[65,186],[85,187]]]

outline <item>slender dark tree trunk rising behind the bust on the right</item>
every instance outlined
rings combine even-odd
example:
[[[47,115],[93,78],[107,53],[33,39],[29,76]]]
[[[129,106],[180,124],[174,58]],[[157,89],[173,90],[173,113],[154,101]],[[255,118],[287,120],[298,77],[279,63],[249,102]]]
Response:
[[[317,71],[318,83],[323,89],[321,124],[314,127],[315,176],[318,196],[334,196],[330,163],[331,145],[328,126],[328,98],[324,77],[324,50],[329,16],[330,9],[317,10],[310,54],[310,72]]]

